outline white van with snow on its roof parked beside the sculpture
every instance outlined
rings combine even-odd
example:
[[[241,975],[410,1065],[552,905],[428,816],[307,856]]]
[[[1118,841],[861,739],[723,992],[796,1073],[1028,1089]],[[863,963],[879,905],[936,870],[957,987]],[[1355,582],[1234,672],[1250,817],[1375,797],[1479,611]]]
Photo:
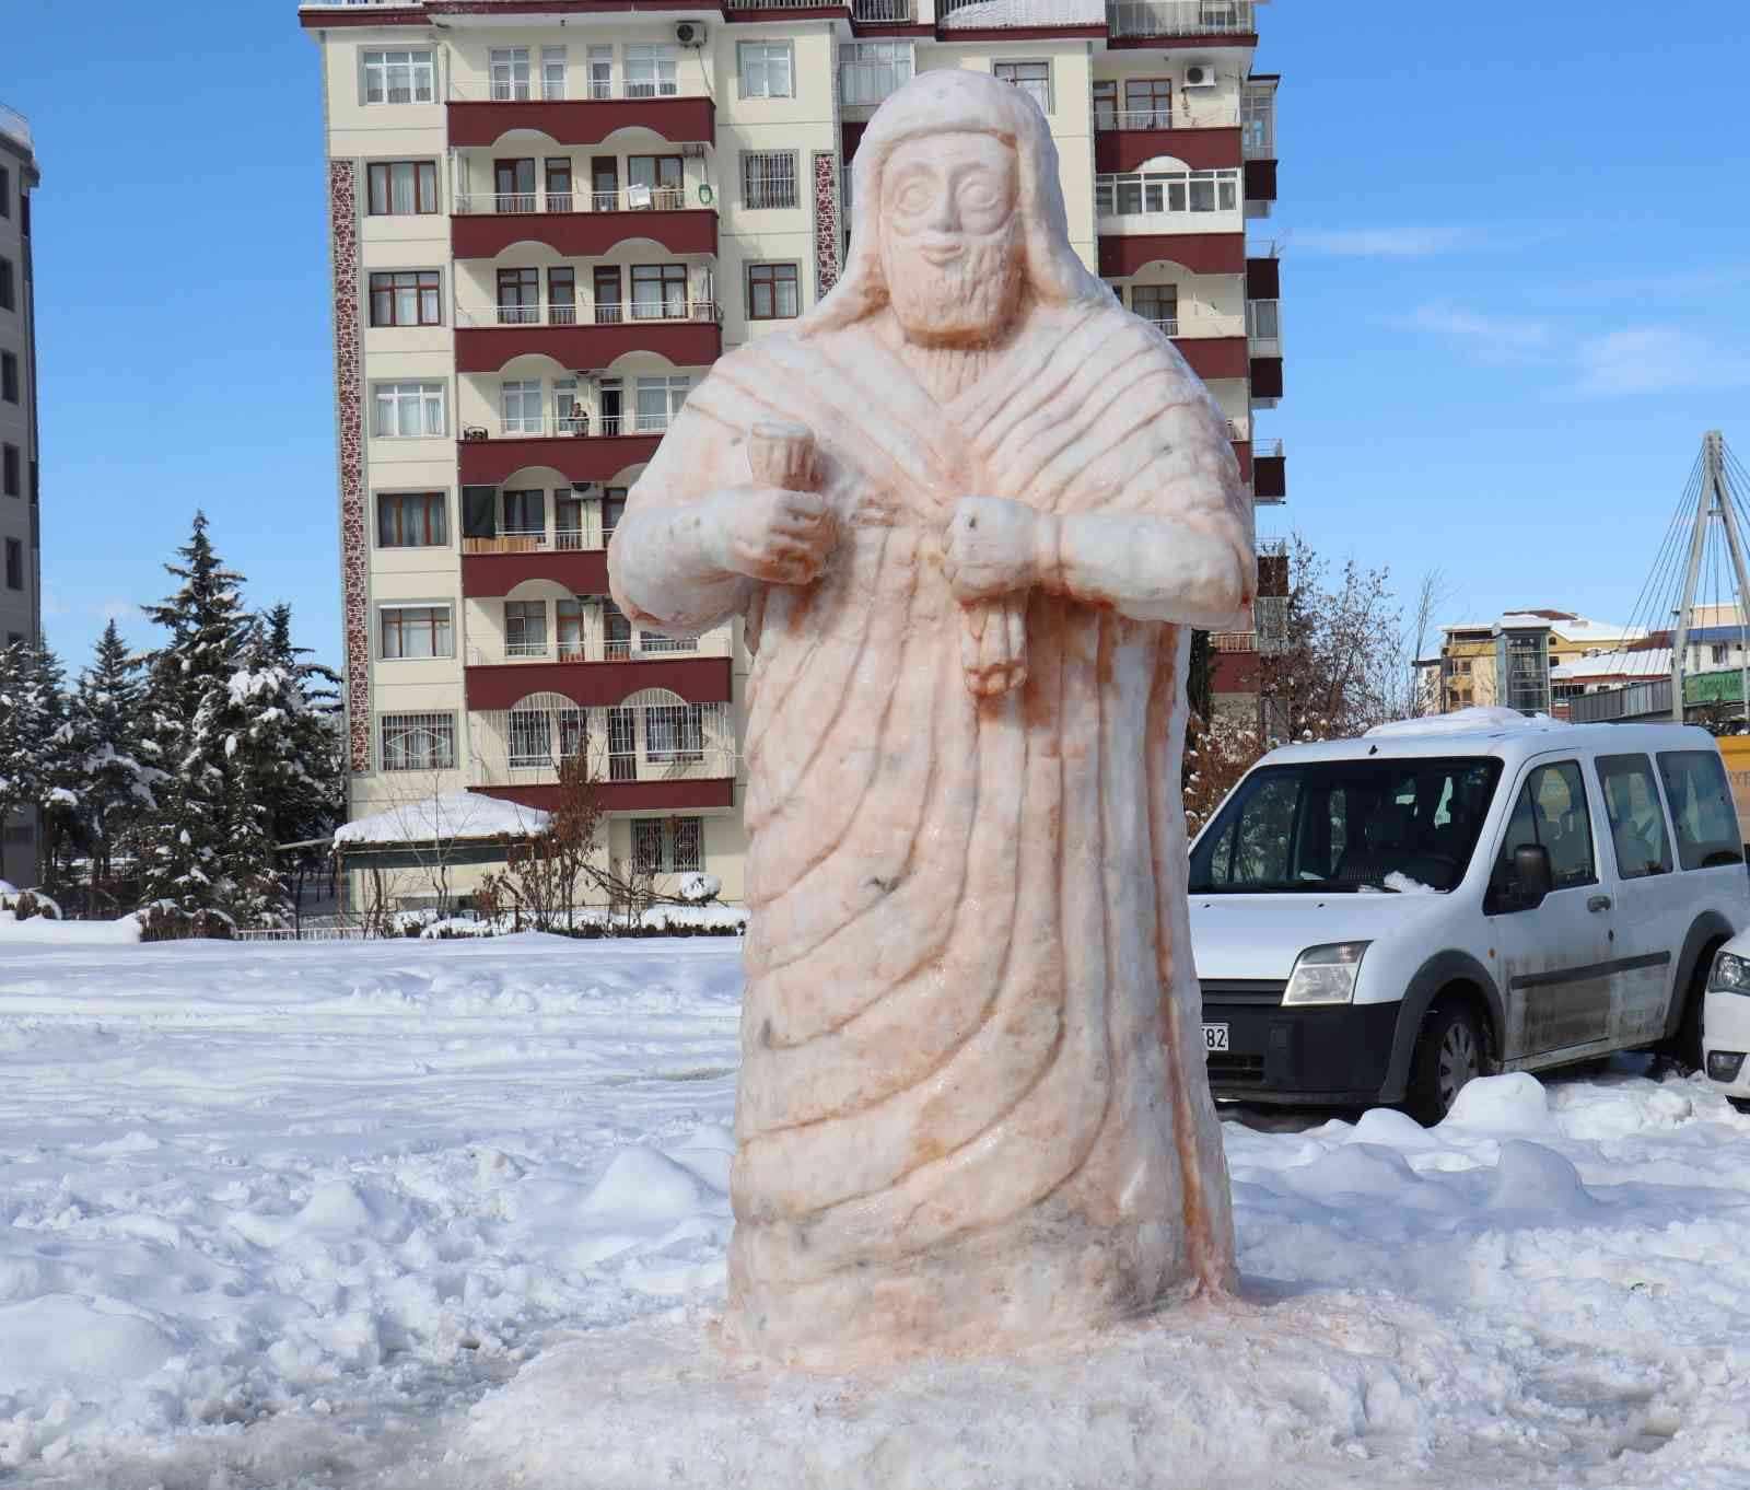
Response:
[[[1713,739],[1466,709],[1255,765],[1190,853],[1218,1098],[1407,1103],[1661,1045],[1701,1059],[1750,924]]]

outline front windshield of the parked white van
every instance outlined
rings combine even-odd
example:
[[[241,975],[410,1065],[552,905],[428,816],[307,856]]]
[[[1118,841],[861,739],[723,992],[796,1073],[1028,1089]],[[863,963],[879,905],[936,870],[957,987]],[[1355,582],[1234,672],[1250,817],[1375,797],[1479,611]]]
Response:
[[[1452,889],[1500,774],[1491,756],[1265,765],[1197,840],[1190,891]]]

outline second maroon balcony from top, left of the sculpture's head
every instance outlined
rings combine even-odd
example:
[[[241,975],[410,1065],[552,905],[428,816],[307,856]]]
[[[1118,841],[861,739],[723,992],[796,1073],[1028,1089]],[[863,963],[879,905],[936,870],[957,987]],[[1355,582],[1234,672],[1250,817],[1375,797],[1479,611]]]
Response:
[[[494,259],[513,243],[546,243],[570,257],[595,257],[632,238],[670,254],[716,254],[716,207],[688,207],[677,187],[565,193],[460,193],[450,219],[458,259]]]

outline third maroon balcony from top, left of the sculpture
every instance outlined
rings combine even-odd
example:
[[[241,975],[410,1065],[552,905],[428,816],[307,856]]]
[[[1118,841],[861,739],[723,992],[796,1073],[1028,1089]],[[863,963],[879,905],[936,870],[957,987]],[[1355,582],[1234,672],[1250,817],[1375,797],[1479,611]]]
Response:
[[[723,326],[709,299],[593,308],[458,306],[455,324],[458,373],[495,373],[513,357],[528,354],[567,368],[606,368],[626,352],[656,352],[677,368],[704,368],[723,355]]]

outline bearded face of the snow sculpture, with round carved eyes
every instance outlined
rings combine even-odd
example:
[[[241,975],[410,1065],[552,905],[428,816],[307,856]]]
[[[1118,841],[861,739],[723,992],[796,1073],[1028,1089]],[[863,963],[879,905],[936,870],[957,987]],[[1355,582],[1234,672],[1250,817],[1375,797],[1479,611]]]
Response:
[[[912,341],[978,345],[1020,303],[1015,151],[994,135],[950,131],[900,144],[882,172],[880,259]]]

